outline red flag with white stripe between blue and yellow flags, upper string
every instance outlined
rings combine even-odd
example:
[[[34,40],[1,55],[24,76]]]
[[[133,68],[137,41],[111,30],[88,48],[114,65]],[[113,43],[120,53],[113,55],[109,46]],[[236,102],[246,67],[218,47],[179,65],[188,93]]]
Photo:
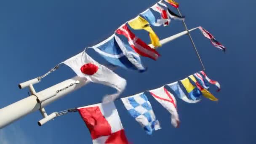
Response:
[[[155,49],[150,48],[149,45],[144,43],[139,37],[136,37],[126,24],[123,24],[120,28],[118,28],[116,33],[119,35],[124,35],[128,39],[128,43],[131,45],[134,51],[139,53],[141,56],[149,57],[154,60],[157,60],[157,58],[160,56]]]

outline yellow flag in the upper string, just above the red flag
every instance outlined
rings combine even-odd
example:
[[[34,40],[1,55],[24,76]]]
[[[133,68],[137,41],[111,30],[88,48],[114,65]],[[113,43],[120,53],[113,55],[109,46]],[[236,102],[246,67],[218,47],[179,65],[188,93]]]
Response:
[[[143,19],[141,16],[137,16],[136,18],[129,21],[128,24],[133,29],[136,29],[136,30],[144,29],[144,30],[146,30],[147,32],[149,32],[149,37],[150,37],[152,45],[154,45],[155,47],[162,46],[158,36],[155,34],[153,29],[149,26],[149,22],[146,19]]]

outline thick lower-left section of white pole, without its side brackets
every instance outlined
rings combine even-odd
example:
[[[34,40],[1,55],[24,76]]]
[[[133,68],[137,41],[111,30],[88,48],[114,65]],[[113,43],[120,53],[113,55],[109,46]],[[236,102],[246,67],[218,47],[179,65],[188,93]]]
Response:
[[[53,96],[52,98],[43,101],[43,103],[41,104],[37,102],[38,97],[47,96],[49,94],[51,95],[53,91],[64,88],[67,85],[70,85],[70,83],[75,83],[77,80],[80,81],[79,84],[73,85],[67,88],[65,91],[57,93],[56,96]],[[9,125],[14,121],[19,120],[21,117],[24,117],[32,112],[39,110],[40,108],[45,107],[51,102],[56,101],[57,99],[60,99],[68,93],[71,93],[72,91],[81,88],[87,83],[89,83],[89,81],[85,78],[75,76],[71,79],[53,85],[52,87],[40,91],[39,93],[35,93],[25,99],[21,99],[20,101],[17,101],[13,104],[8,105],[7,107],[0,109],[0,128],[4,128],[6,125]]]

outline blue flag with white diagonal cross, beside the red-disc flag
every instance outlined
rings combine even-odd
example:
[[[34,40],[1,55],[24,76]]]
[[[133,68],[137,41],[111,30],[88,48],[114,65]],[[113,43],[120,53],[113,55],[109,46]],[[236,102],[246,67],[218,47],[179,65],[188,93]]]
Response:
[[[123,43],[117,35],[112,35],[101,43],[92,46],[109,63],[125,69],[145,71],[141,58],[130,45]]]

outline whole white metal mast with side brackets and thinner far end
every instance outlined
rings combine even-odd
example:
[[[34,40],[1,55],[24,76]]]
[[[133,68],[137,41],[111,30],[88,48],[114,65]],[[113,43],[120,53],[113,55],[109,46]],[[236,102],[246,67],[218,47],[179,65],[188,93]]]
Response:
[[[160,41],[160,43],[163,45],[165,43],[168,43],[172,40],[175,40],[176,38],[179,38],[183,35],[188,34],[188,32],[195,30],[197,28],[194,29],[190,29],[189,31],[184,31],[184,32],[180,32],[176,35],[173,35],[171,37],[167,37],[163,40]],[[38,80],[34,80],[31,81],[29,80],[28,82],[25,83],[21,83],[20,87],[23,88],[25,86],[29,86],[31,83],[37,83]],[[79,81],[80,83],[77,83],[77,81]],[[77,83],[75,85],[71,85],[72,83]],[[34,88],[33,90],[33,94],[25,99],[21,99],[20,101],[17,101],[13,104],[10,104],[2,109],[0,109],[0,129],[4,128],[5,126],[13,123],[16,120],[19,120],[21,117],[24,117],[32,112],[35,112],[37,110],[40,110],[40,112],[42,113],[42,115],[44,117],[46,117],[46,119],[52,119],[53,117],[47,116],[46,112],[44,111],[44,107],[50,103],[52,103],[53,101],[56,101],[57,99],[60,99],[61,97],[67,95],[68,93],[71,93],[73,91],[76,91],[77,89],[83,87],[84,85],[90,83],[90,81],[86,80],[85,78],[81,78],[78,76],[75,76],[71,79],[65,80],[61,83],[58,83],[56,85],[51,86],[50,88],[47,88],[43,91],[40,92],[35,92]],[[26,84],[26,85],[25,85]],[[30,87],[32,87],[32,84],[30,85]],[[65,88],[63,91],[59,91],[58,93],[56,93],[56,91]],[[48,97],[48,99],[44,100],[44,101],[40,101],[38,102],[38,99],[42,100],[45,97]],[[51,116],[53,116],[54,114],[51,114]],[[45,123],[47,120],[44,119],[42,121],[42,123]],[[45,121],[46,120],[46,121]]]

